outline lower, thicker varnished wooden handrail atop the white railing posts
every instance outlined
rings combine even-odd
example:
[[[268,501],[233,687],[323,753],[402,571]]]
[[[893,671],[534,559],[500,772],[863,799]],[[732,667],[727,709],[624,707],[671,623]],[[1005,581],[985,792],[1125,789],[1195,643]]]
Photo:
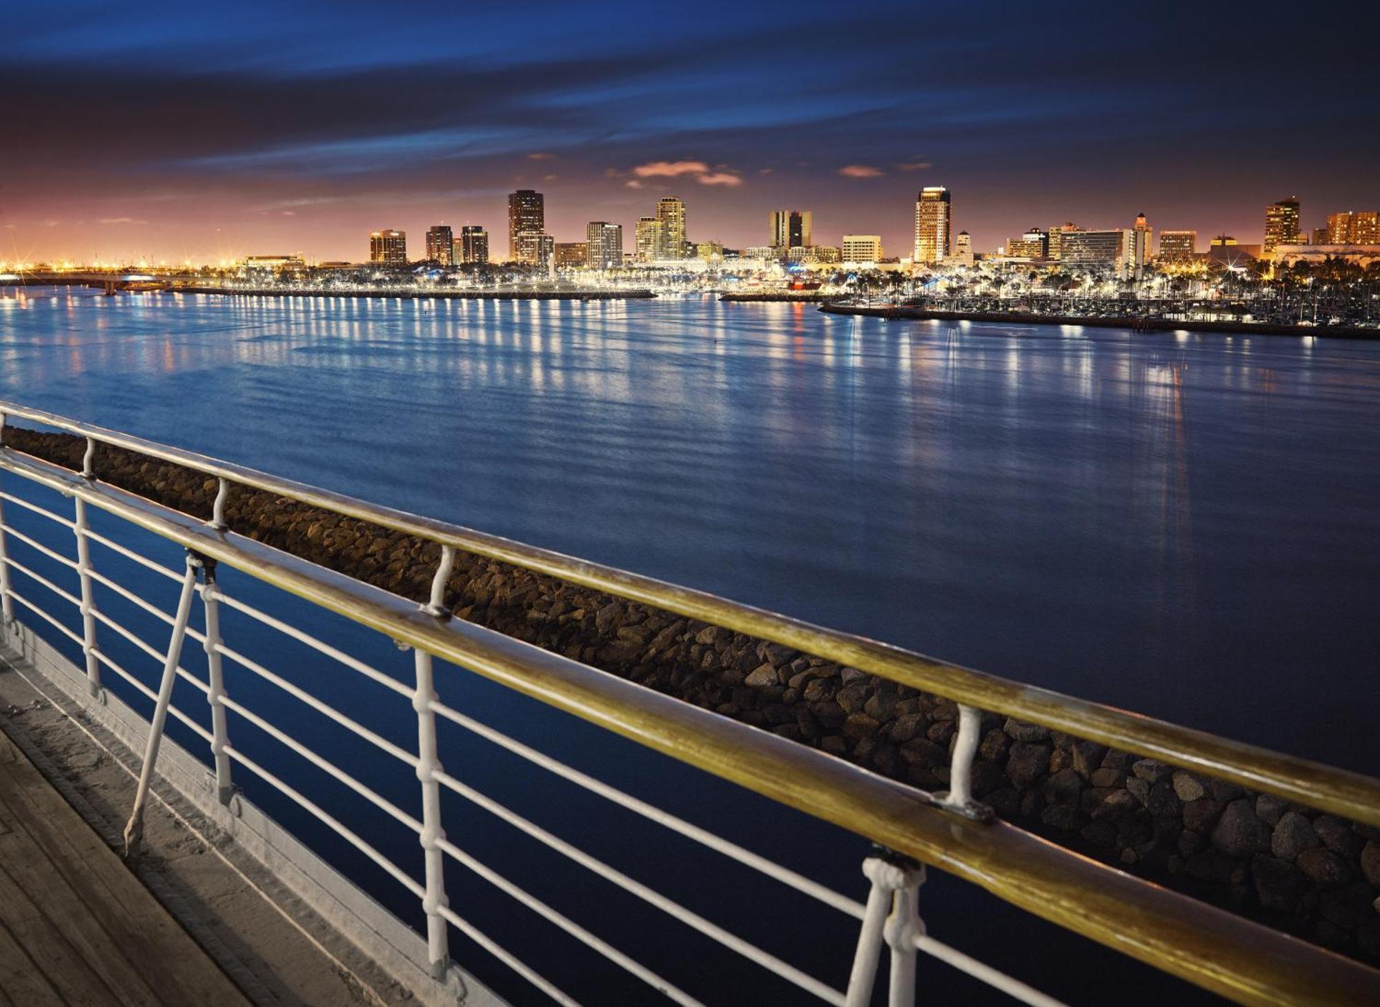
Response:
[[[14,448],[0,468],[787,807],[915,857],[1242,1004],[1380,1003],[1380,971],[816,749],[598,672]]]

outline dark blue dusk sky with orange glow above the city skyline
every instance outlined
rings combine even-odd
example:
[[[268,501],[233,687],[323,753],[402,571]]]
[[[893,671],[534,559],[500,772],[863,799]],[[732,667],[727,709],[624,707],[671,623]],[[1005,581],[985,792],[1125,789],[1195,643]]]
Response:
[[[1029,225],[1259,241],[1380,207],[1365,4],[50,3],[0,29],[0,259],[421,254],[432,223],[556,240],[678,195],[691,240],[908,254],[947,185],[980,250]]]

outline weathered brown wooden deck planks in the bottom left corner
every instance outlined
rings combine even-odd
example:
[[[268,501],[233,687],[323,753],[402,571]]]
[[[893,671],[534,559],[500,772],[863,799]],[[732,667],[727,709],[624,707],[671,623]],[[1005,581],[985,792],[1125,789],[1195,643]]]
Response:
[[[0,734],[0,1006],[246,1003]]]

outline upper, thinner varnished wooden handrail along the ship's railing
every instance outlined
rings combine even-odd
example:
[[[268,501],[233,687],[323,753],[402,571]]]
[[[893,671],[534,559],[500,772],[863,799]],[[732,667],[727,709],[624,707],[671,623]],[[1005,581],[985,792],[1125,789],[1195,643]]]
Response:
[[[83,423],[15,403],[0,401],[0,415],[29,419],[81,437],[126,448],[208,476],[264,490],[393,531],[450,545],[534,572],[593,588],[622,599],[704,619],[727,629],[838,661],[955,702],[1003,713],[1087,738],[1172,766],[1225,779],[1253,790],[1380,826],[1380,779],[1297,756],[1220,738],[1115,706],[1089,702],[1038,686],[945,664],[867,637],[740,604],[625,570],[589,563],[549,549],[489,535],[431,517],[378,506],[345,494],[272,476],[241,465],[184,451],[119,430]]]

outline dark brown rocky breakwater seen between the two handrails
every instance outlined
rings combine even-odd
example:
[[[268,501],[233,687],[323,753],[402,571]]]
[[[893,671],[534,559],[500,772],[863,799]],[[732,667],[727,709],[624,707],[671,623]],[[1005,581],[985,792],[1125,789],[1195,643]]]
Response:
[[[84,443],[7,428],[6,444],[79,469]],[[102,447],[99,479],[208,517],[215,481]],[[230,527],[424,601],[439,548],[233,487]],[[958,706],[723,626],[460,555],[457,617],[923,789],[948,785]],[[998,815],[1172,888],[1380,964],[1380,829],[984,715],[973,790]]]

